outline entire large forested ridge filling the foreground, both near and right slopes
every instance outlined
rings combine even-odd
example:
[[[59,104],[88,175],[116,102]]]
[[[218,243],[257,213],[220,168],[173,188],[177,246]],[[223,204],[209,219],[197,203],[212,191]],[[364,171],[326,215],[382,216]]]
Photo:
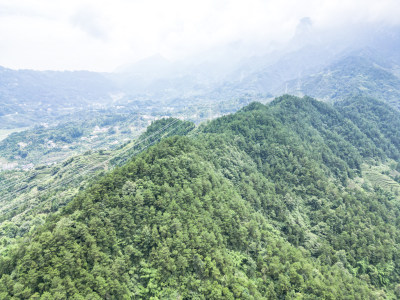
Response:
[[[394,299],[399,196],[363,168],[396,171],[399,120],[283,96],[165,139],[1,257],[0,295]]]

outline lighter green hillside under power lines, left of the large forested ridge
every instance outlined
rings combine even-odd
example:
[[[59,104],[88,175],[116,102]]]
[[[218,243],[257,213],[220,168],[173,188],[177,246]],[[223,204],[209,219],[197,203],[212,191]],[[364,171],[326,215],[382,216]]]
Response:
[[[29,170],[0,174],[0,256],[12,252],[16,242],[46,217],[63,208],[107,170],[121,166],[162,138],[193,130],[188,121],[167,118],[153,122],[146,132],[112,151],[89,150],[82,155]]]

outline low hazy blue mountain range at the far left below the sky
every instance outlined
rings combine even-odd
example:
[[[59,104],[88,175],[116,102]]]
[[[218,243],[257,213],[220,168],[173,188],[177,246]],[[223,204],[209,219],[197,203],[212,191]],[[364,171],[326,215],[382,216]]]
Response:
[[[103,107],[118,91],[106,75],[88,71],[0,67],[0,78],[0,128],[32,126],[82,109]]]

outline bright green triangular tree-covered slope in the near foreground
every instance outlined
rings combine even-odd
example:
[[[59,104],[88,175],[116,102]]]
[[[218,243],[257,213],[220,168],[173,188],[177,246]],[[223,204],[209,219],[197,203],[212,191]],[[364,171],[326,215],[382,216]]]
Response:
[[[185,138],[166,140],[78,196],[2,261],[3,273],[14,269],[2,277],[3,295],[367,295],[366,285],[340,268],[322,275],[243,201],[199,147]]]

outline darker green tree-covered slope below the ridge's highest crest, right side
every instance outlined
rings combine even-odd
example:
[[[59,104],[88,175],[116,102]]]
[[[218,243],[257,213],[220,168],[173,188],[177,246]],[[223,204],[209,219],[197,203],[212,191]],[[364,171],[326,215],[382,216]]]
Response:
[[[356,106],[367,100],[355,101]],[[371,112],[362,114],[369,127],[357,127],[322,102],[286,96],[269,106],[253,104],[205,131],[236,140],[256,162],[259,178],[274,183],[274,200],[261,209],[292,244],[327,263],[342,255],[350,273],[383,287],[399,276],[394,259],[399,251],[399,197],[390,190],[354,186],[353,179],[361,176],[361,163],[383,163],[396,156],[384,140],[368,138],[372,131],[383,136],[384,130],[372,125]],[[391,125],[396,126],[395,120]],[[265,195],[263,188],[249,192],[249,185],[243,186],[249,200]]]

